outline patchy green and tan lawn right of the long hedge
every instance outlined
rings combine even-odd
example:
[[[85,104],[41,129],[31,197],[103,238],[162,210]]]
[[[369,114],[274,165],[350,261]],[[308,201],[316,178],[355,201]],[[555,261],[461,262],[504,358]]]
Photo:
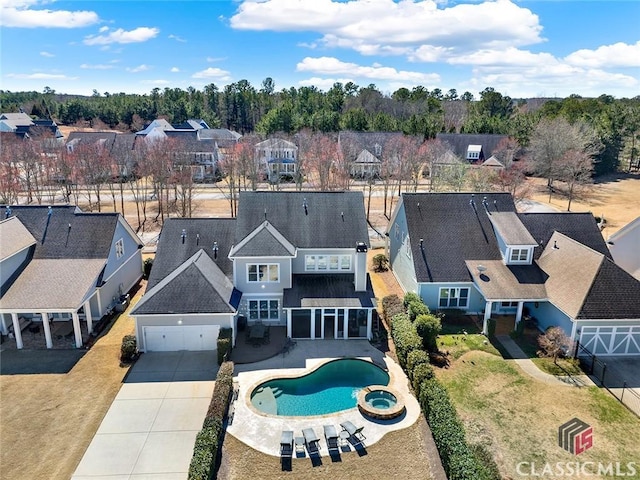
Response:
[[[496,355],[471,351],[436,369],[472,442],[494,452],[504,477],[519,462],[639,462],[640,420],[597,387],[541,383]],[[594,447],[579,457],[557,444],[558,427],[578,417],[593,427]],[[636,476],[640,478],[640,468]]]

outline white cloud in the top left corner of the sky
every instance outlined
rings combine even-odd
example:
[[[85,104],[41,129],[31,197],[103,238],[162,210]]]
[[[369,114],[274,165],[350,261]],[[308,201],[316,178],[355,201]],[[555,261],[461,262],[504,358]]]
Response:
[[[50,10],[38,8],[41,0],[3,0],[0,25],[18,28],[81,28],[100,21],[98,14],[87,10]]]

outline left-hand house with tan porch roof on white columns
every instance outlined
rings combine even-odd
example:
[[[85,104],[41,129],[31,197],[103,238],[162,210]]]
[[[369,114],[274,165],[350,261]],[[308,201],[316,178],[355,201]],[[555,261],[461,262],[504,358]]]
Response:
[[[142,277],[142,242],[118,213],[7,206],[3,217],[0,330],[17,348],[27,325],[47,348],[63,337],[80,348]]]

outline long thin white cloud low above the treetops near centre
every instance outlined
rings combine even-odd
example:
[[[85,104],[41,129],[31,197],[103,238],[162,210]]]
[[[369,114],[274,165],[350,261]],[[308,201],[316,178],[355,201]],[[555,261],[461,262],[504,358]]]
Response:
[[[410,72],[384,67],[376,63],[367,67],[356,63],[342,62],[334,57],[306,57],[296,66],[298,72],[312,72],[317,75],[348,75],[377,81],[403,81],[411,84],[431,84],[438,82],[436,73]]]

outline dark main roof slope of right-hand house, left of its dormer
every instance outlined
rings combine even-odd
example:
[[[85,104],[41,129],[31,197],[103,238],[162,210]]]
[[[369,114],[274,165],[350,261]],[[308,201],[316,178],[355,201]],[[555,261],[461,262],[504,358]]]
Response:
[[[468,282],[466,260],[502,260],[483,197],[491,212],[516,210],[508,193],[402,195],[418,282]]]

